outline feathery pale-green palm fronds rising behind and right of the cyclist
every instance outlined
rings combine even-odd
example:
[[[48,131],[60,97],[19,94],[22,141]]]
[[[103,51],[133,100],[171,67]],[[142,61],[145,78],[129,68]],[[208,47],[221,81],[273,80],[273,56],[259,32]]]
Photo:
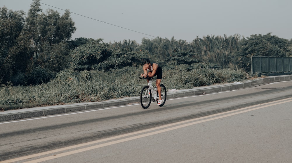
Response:
[[[197,37],[191,43],[184,40],[175,40],[173,37],[171,40],[167,38],[155,38],[153,40],[143,38],[142,48],[145,48],[153,56],[154,60],[167,61],[173,58],[173,53],[180,51],[189,51],[193,58],[196,58],[199,62],[215,63],[221,67],[230,67],[236,69],[235,65],[235,52],[239,50],[238,42],[240,41],[239,35],[227,37],[222,36],[204,36],[202,39]],[[183,54],[183,53],[182,53]],[[176,57],[176,56],[175,56]],[[188,64],[185,55],[179,56],[179,63]],[[176,59],[171,59],[172,61]],[[166,64],[164,62],[163,64]]]

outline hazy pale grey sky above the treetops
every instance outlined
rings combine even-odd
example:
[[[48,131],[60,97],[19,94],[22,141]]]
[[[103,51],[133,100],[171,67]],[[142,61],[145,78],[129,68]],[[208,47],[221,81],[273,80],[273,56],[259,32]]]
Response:
[[[32,2],[0,0],[0,7],[5,5],[8,10],[27,13]],[[104,42],[130,39],[140,43],[143,37],[173,36],[191,42],[197,36],[249,37],[269,32],[292,39],[292,0],[41,0],[41,3],[50,5],[41,4],[43,12],[51,8],[60,15],[65,12],[60,9],[79,14],[71,13],[77,28],[72,39],[103,38]]]

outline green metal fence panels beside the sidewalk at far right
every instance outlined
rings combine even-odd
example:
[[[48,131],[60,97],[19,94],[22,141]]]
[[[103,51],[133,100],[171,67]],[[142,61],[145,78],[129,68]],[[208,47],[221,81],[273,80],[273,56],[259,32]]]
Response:
[[[251,73],[279,73],[292,71],[290,57],[251,57]]]

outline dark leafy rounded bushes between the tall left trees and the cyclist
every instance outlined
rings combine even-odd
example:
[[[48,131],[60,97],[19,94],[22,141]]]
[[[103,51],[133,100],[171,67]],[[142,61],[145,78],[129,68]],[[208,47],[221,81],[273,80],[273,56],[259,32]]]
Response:
[[[71,55],[72,68],[76,71],[109,71],[125,66],[136,67],[142,58],[149,54],[145,49],[134,52],[131,47],[113,47],[113,44],[109,45],[102,42],[102,39],[98,39],[89,40],[86,44],[75,48]]]

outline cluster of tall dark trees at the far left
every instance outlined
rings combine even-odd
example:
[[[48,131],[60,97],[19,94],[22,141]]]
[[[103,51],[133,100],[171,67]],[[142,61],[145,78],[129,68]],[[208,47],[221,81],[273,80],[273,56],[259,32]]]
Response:
[[[1,8],[0,83],[15,81],[17,74],[29,74],[37,67],[57,73],[69,66],[68,40],[76,30],[70,12],[43,13],[39,2],[32,2],[27,17],[23,11],[7,13]]]

